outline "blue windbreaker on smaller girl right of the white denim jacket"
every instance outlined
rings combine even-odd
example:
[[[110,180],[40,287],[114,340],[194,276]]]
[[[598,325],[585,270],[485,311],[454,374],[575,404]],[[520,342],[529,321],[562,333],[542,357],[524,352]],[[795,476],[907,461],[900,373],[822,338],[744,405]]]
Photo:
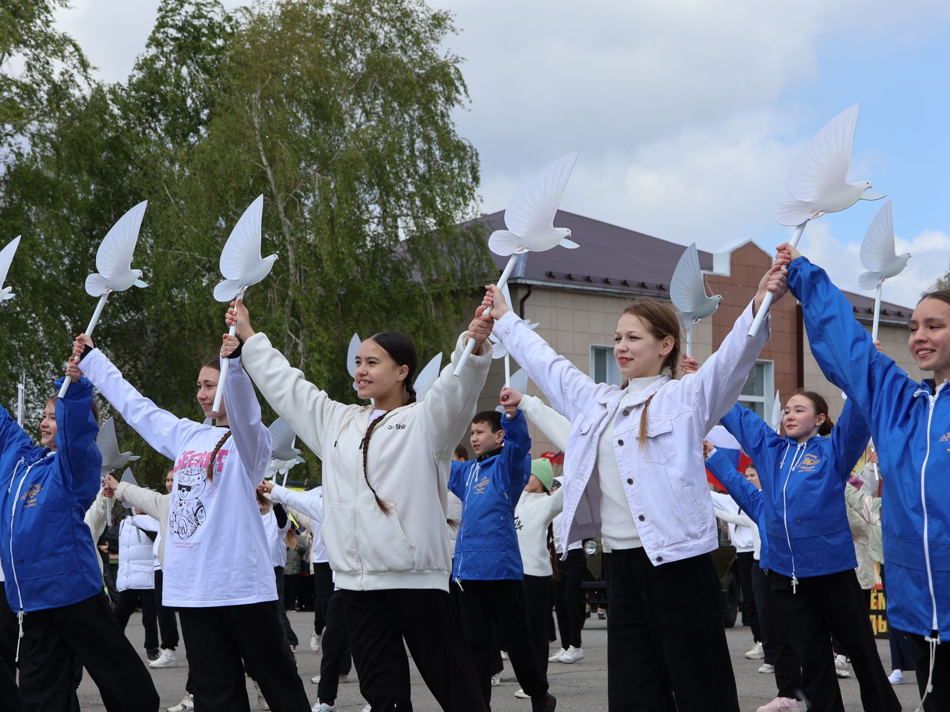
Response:
[[[752,459],[762,485],[768,558],[759,565],[791,576],[854,569],[845,485],[864,453],[870,431],[850,401],[827,438],[799,444],[738,403],[722,424]]]

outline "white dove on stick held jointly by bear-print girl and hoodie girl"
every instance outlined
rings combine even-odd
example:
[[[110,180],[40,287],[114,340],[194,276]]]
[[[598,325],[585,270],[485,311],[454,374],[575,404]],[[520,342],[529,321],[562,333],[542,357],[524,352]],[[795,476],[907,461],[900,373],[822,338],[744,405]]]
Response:
[[[219,282],[215,287],[215,299],[218,302],[230,302],[243,298],[244,291],[270,274],[274,267],[276,254],[270,254],[263,259],[260,256],[260,221],[263,209],[264,197],[257,196],[237,220],[234,230],[224,243],[218,262],[224,281]],[[231,327],[228,333],[234,336],[236,330],[237,325]],[[230,364],[230,359],[221,360],[221,376],[218,383],[222,386],[228,375]],[[215,394],[215,403],[211,407],[212,415],[218,415],[223,396],[224,388],[220,387]]]

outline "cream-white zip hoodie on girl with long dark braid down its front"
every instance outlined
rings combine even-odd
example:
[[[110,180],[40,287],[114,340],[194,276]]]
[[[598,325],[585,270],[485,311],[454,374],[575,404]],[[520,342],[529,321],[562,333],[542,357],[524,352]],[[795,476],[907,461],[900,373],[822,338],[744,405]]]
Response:
[[[475,415],[491,365],[486,343],[462,376],[453,375],[464,343],[460,336],[452,363],[423,403],[391,410],[373,430],[367,472],[376,493],[390,503],[390,515],[376,506],[363,473],[360,446],[372,407],[332,401],[265,334],[244,343],[242,361],[260,392],[323,461],[320,534],[337,587],[448,590],[449,461]]]

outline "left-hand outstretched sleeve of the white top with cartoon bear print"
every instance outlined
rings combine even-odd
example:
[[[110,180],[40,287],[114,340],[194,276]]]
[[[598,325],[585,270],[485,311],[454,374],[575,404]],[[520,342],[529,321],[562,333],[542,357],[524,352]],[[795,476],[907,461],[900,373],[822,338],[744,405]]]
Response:
[[[145,398],[135,387],[123,379],[122,372],[105,354],[94,348],[79,364],[83,375],[103,394],[105,400],[119,411],[125,422],[145,441],[166,458],[174,460],[179,454],[179,445],[203,425],[194,421],[176,418],[166,410]]]

